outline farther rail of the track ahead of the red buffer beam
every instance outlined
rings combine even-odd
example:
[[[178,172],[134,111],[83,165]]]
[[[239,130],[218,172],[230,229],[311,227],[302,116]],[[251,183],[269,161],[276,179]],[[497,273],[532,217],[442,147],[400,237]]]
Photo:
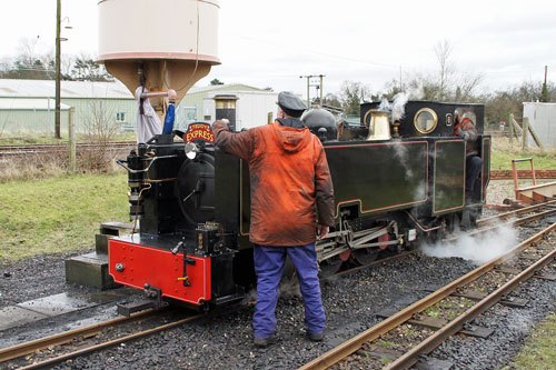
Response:
[[[160,312],[158,310],[157,312]],[[60,346],[70,342],[72,339],[78,338],[78,337],[91,337],[95,334],[98,334],[102,331],[102,329],[109,328],[109,327],[115,327],[115,326],[121,326],[125,323],[138,321],[140,319],[143,319],[148,316],[151,316],[155,313],[155,310],[148,310],[143,312],[138,312],[132,314],[129,318],[116,318],[98,323],[93,323],[91,326],[87,326],[83,328],[78,328],[69,331],[64,331],[61,333],[52,334],[46,338],[40,338],[36,340],[31,340],[24,343],[7,347],[0,349],[0,362],[4,362],[11,359],[16,359],[21,356],[26,356],[29,353],[33,353],[36,351],[40,351],[42,349],[52,347],[52,346]]]

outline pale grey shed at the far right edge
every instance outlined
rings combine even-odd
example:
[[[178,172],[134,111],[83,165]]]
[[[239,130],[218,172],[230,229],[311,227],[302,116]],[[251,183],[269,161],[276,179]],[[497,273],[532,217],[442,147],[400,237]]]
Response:
[[[545,147],[556,148],[556,103],[524,102],[523,117]]]

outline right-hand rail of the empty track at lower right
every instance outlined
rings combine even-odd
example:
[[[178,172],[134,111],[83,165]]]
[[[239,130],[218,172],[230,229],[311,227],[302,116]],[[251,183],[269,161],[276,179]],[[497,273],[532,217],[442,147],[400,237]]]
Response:
[[[554,229],[556,223],[550,226],[548,229]],[[543,230],[544,233],[546,231]],[[490,307],[496,304],[503,296],[515,290],[522,282],[528,280],[535,274],[536,271],[548,264],[556,257],[556,249],[552,250],[548,254],[537,260],[535,263],[529,266],[527,269],[515,276],[513,279],[507,281],[504,286],[485,297],[478,303],[469,308],[467,311],[458,316],[456,319],[450,321],[444,328],[436,331],[433,336],[425,339],[423,342],[414,347],[408,352],[404,353],[401,357],[396,359],[396,361],[389,363],[386,369],[408,369],[410,366],[419,361],[421,354],[430,353],[435,348],[445,342],[448,338],[456,334],[459,330],[464,328],[464,324],[483,312],[487,311]]]

